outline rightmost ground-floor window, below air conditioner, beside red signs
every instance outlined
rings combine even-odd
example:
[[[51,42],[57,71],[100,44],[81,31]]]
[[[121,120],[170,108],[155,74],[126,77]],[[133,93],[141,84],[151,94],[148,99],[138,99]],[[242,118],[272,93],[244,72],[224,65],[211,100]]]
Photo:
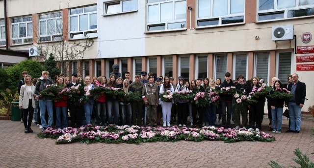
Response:
[[[283,52],[278,54],[277,76],[282,84],[288,84],[288,76],[291,75],[291,58],[291,52]]]

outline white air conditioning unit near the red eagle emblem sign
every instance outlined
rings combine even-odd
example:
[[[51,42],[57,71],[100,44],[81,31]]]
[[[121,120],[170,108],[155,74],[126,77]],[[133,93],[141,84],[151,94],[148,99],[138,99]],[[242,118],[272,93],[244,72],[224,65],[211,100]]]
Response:
[[[273,26],[271,31],[272,41],[292,40],[293,39],[293,24]]]

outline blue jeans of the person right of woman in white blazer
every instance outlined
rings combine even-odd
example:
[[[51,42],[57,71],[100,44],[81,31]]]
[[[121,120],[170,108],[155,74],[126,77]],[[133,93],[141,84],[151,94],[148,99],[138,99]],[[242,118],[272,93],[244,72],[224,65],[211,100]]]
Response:
[[[52,121],[53,121],[52,105],[53,105],[52,100],[48,100],[48,101],[39,100],[40,121],[41,121],[41,126],[43,126],[43,128],[52,126]],[[49,116],[48,125],[45,119],[46,108],[47,108],[47,112]]]

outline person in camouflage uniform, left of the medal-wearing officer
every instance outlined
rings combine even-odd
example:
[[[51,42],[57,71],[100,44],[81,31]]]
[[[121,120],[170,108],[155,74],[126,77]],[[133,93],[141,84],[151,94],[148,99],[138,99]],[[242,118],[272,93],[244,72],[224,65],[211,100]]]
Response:
[[[139,93],[142,95],[142,90],[143,90],[143,83],[139,82],[140,76],[135,75],[135,82],[133,82],[130,87],[134,93]],[[137,117],[136,117],[136,110],[137,110]],[[143,117],[143,102],[139,101],[132,101],[132,125],[137,125],[140,126],[142,122],[142,117]],[[137,118],[137,121],[136,121]]]

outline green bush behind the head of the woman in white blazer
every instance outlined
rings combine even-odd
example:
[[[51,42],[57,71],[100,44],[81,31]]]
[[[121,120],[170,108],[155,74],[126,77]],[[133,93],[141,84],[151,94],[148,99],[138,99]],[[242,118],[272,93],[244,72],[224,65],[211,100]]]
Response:
[[[22,72],[27,71],[32,78],[40,77],[44,70],[43,65],[33,60],[24,60],[14,66],[4,69],[7,73],[6,87],[15,92],[18,88],[19,81],[22,78]]]

